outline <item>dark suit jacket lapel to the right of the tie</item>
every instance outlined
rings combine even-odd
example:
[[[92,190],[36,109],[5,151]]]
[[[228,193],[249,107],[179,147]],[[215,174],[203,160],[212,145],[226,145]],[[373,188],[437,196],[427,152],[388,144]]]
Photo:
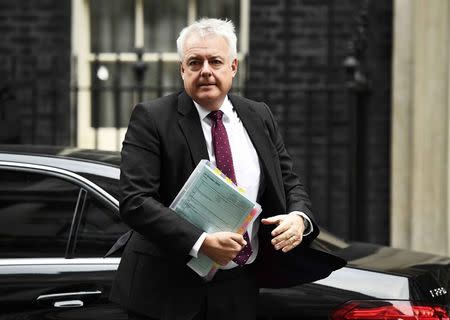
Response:
[[[262,169],[265,170],[265,183],[268,186],[273,186],[274,192],[277,194],[277,198],[281,201],[281,199],[283,199],[281,194],[283,187],[281,185],[282,182],[277,178],[273,161],[276,150],[271,149],[273,144],[270,142],[270,138],[265,132],[264,123],[262,122],[261,117],[251,104],[234,95],[229,95],[229,98],[245,129],[247,130],[256,152],[258,153],[259,160],[263,165]]]

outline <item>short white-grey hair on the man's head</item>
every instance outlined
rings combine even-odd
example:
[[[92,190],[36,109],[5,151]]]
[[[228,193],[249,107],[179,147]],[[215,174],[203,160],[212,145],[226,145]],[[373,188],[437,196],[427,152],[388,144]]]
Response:
[[[183,61],[186,40],[193,35],[197,35],[202,38],[206,36],[224,37],[228,42],[228,47],[230,48],[231,59],[233,60],[237,58],[237,37],[234,30],[234,24],[231,20],[202,18],[195,21],[181,30],[180,35],[178,36],[177,51],[180,61]]]

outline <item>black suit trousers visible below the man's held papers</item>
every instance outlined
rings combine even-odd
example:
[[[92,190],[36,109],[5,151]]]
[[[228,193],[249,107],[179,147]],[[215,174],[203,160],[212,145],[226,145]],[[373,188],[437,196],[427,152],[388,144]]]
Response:
[[[248,266],[219,270],[210,282],[205,282],[203,304],[190,320],[254,320],[258,299],[258,287]],[[128,311],[130,320],[174,320],[162,315],[150,318]],[[186,319],[177,315],[176,319]]]

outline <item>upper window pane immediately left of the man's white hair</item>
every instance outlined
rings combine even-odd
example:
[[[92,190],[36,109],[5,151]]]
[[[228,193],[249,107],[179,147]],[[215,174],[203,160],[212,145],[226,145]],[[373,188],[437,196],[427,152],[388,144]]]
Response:
[[[187,24],[188,1],[144,0],[144,46],[151,52],[176,52],[176,39]]]

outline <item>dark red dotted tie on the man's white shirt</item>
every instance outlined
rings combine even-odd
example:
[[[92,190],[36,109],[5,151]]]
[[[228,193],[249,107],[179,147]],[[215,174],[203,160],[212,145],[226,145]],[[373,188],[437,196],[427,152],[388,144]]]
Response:
[[[236,184],[236,175],[234,173],[233,167],[233,157],[231,155],[230,143],[228,141],[227,130],[222,122],[223,112],[212,111],[208,117],[211,121],[211,136],[214,148],[214,154],[216,156],[216,166],[220,171],[223,172],[228,178]],[[244,239],[247,244],[238,253],[236,258],[233,259],[238,265],[242,266],[247,262],[248,258],[251,256],[253,250],[250,245],[250,240],[248,233],[244,233]]]

